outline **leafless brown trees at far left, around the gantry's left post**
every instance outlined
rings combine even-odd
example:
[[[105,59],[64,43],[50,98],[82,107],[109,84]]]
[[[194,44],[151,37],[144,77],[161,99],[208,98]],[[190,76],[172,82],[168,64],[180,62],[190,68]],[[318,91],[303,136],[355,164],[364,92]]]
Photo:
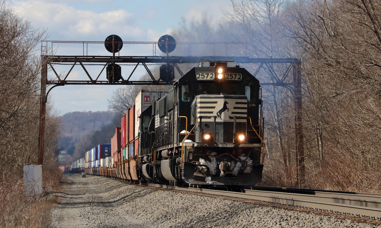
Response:
[[[0,4],[0,170],[8,177],[37,163],[40,59],[37,47],[45,37],[5,4]],[[45,160],[55,162],[59,122],[48,106]],[[48,167],[45,166],[45,167]]]

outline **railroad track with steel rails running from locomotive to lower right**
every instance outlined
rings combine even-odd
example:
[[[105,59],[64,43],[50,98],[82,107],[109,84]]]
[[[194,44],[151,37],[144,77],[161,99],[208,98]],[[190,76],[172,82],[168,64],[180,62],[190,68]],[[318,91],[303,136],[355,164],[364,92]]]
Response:
[[[161,184],[147,186],[381,224],[381,194],[259,186],[245,188],[243,192]]]

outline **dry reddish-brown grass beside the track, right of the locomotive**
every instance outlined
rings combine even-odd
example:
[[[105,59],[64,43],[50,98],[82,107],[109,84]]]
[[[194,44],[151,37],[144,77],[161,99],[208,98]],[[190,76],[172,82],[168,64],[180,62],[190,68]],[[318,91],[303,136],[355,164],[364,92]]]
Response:
[[[358,165],[355,158],[330,155],[321,163],[306,163],[302,188],[381,193],[381,171]],[[280,162],[265,163],[262,182],[258,185],[298,187],[296,166],[284,168]]]

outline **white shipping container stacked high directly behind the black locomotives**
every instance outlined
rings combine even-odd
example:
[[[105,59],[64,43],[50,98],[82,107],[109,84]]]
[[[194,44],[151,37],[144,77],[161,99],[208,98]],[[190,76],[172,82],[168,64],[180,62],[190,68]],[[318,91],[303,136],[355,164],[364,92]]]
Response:
[[[134,139],[139,136],[139,116],[146,108],[148,108],[152,103],[162,98],[163,95],[168,93],[168,90],[140,90],[138,96],[135,98],[135,133]],[[130,139],[131,140],[131,139]]]

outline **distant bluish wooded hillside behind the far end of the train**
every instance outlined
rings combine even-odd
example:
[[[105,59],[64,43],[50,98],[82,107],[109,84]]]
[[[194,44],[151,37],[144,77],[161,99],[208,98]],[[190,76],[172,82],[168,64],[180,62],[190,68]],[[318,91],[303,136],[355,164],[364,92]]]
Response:
[[[113,118],[112,111],[83,111],[68,112],[61,117],[64,128],[60,141],[60,150],[67,150],[67,154],[72,155],[75,144],[83,137],[93,134],[102,127],[109,125]]]

